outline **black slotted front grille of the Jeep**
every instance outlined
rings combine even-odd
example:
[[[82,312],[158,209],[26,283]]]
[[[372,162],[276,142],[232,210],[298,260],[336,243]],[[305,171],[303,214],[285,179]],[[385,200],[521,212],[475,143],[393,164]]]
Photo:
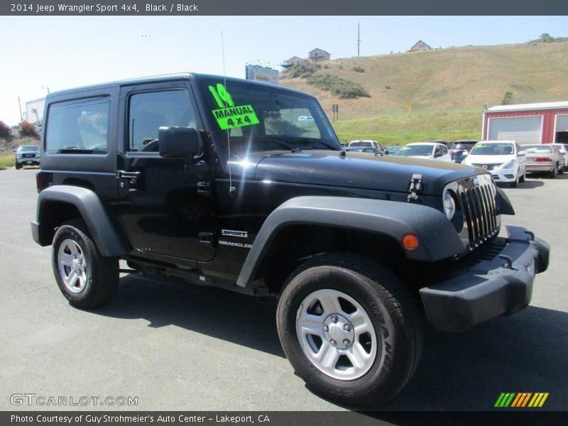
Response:
[[[495,183],[491,175],[477,175],[448,185],[459,200],[464,218],[461,241],[476,249],[499,233],[500,220],[495,201]]]

